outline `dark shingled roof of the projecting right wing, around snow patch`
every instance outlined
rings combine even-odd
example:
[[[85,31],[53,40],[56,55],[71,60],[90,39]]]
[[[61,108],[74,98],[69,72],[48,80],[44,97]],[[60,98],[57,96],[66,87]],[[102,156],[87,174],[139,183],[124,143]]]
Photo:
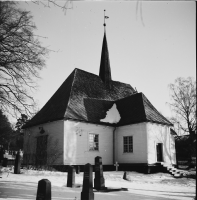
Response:
[[[156,110],[143,93],[133,93],[116,101],[86,98],[84,103],[88,116],[88,120],[85,121],[92,123],[123,126],[140,122],[153,122],[172,126],[172,123]],[[121,117],[120,121],[117,124],[101,122],[100,120],[105,119],[106,112],[112,108],[114,103]]]

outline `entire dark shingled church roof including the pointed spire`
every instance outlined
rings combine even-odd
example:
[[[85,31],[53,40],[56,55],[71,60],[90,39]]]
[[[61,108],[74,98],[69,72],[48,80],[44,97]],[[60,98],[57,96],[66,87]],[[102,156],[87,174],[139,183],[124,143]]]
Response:
[[[121,116],[117,124],[101,122],[116,103]],[[99,76],[75,69],[44,107],[23,128],[72,119],[110,126],[140,122],[172,125],[142,93],[129,85],[111,80],[107,39],[104,34]]]

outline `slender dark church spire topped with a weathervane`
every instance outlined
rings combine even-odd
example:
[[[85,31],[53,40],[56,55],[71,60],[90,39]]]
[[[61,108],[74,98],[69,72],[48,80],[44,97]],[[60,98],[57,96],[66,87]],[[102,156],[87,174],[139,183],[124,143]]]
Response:
[[[105,12],[105,10],[104,10]],[[101,52],[101,63],[100,63],[100,72],[99,76],[104,82],[106,86],[110,85],[111,81],[111,69],[110,69],[110,62],[109,62],[109,52],[107,47],[107,39],[106,39],[106,24],[105,19],[109,17],[105,16],[104,14],[104,37],[103,37],[103,46],[102,46],[102,52]]]

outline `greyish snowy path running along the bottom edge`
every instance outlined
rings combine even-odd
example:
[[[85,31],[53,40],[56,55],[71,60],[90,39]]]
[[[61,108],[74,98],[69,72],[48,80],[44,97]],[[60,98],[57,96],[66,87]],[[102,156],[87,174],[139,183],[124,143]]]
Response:
[[[52,186],[53,200],[80,200],[82,188],[68,188]],[[20,200],[35,200],[37,192],[37,184],[32,182],[15,182],[1,181],[0,182],[0,198],[1,199],[20,199]],[[174,199],[192,199],[193,194],[171,192],[171,194],[163,191],[157,192],[150,190],[129,189],[128,191],[111,191],[97,192],[94,191],[95,200],[174,200]],[[162,197],[163,196],[163,197]],[[170,196],[172,198],[170,198]]]

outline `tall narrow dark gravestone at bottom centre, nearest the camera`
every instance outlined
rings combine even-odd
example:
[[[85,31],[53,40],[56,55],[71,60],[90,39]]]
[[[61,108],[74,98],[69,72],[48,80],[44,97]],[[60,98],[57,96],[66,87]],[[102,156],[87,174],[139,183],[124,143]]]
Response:
[[[94,200],[93,185],[92,185],[92,165],[84,166],[83,189],[81,192],[81,200]]]

